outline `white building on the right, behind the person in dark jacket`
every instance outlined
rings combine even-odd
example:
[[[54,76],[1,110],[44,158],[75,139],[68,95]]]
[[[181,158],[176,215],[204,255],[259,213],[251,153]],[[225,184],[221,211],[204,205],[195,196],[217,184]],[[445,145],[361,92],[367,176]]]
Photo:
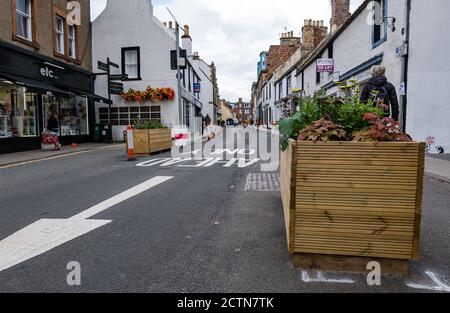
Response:
[[[349,10],[348,0],[332,5]],[[333,95],[333,80],[364,84],[371,67],[383,65],[397,89],[402,126],[415,140],[432,142],[431,152],[448,152],[449,12],[448,1],[366,0],[297,67],[297,84],[307,96],[321,89]],[[370,23],[373,17],[379,22]],[[317,73],[322,58],[334,59],[334,73]]]

